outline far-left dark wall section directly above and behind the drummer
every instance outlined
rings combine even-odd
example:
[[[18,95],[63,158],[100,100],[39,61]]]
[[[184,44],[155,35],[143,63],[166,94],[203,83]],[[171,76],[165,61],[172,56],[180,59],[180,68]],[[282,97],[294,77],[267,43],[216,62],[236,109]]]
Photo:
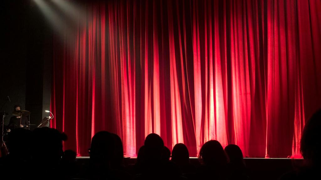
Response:
[[[0,104],[1,106],[10,97],[0,111],[8,112],[5,117],[5,124],[9,123],[11,112],[15,104],[20,104],[25,109],[26,103],[26,61],[27,49],[25,34],[27,33],[26,6],[22,2],[13,3],[5,0],[1,5],[1,17],[4,24],[1,66],[0,66]]]

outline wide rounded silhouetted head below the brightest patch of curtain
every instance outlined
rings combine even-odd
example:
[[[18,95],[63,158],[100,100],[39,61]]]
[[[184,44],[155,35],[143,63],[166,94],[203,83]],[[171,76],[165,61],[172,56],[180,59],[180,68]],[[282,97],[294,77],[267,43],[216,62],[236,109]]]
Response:
[[[227,164],[227,156],[221,145],[216,140],[207,141],[203,144],[198,155],[199,160],[205,165],[220,167]]]

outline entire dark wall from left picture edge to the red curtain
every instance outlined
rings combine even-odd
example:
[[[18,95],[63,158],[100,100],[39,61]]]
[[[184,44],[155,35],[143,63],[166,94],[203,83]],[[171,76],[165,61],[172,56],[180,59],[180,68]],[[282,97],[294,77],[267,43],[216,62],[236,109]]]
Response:
[[[39,8],[30,0],[5,0],[0,7],[4,36],[0,64],[0,105],[9,115],[20,104],[30,123],[39,124],[50,108],[52,32]],[[35,127],[35,126],[33,126]]]

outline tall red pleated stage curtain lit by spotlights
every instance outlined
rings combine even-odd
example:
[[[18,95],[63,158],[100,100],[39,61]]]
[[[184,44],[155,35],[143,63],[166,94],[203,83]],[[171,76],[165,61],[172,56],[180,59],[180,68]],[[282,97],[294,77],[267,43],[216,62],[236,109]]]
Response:
[[[135,156],[150,133],[195,156],[216,139],[247,157],[299,155],[321,107],[321,1],[90,2],[55,37],[51,126],[65,149],[119,135]],[[67,26],[67,25],[66,25]]]

